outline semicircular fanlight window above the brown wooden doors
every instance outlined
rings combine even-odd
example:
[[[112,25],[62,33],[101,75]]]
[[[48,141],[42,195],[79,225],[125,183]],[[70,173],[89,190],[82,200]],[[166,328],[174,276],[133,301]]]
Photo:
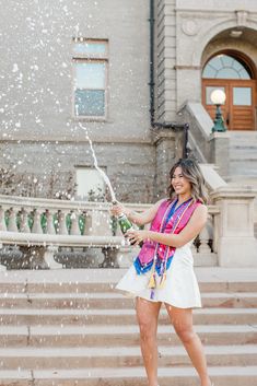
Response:
[[[238,59],[230,55],[220,54],[208,61],[203,69],[202,78],[248,80],[252,79],[252,74],[245,63]]]

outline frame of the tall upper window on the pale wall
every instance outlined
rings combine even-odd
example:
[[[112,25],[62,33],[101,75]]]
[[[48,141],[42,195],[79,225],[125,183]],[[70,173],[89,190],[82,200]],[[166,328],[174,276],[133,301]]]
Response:
[[[95,52],[95,54],[82,54],[75,52],[74,44],[75,43],[100,43],[105,45],[105,52]],[[85,121],[106,121],[108,116],[108,39],[96,39],[96,38],[73,38],[72,39],[72,117],[74,120],[85,120]],[[105,83],[104,89],[78,89],[75,87],[75,63],[94,63],[101,62],[105,65]],[[98,115],[77,115],[75,114],[75,90],[103,90],[104,91],[104,110],[105,114],[102,116]]]

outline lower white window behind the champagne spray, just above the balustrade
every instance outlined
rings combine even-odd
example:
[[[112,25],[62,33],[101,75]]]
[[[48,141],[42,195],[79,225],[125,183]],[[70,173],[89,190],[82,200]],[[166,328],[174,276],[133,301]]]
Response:
[[[102,167],[105,169],[104,167]],[[92,167],[77,167],[77,197],[84,200],[101,201],[105,196],[105,184],[100,173]]]

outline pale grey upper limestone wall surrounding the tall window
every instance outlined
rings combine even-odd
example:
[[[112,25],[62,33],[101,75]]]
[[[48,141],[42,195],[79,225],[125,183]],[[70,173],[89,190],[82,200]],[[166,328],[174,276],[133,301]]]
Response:
[[[72,117],[72,37],[108,39],[108,114],[92,139],[149,136],[149,8],[145,1],[4,1],[1,7],[0,138],[83,138]]]

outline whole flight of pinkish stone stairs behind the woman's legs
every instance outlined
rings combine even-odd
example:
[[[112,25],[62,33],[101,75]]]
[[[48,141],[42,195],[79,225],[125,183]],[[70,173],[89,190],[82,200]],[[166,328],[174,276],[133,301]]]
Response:
[[[215,386],[257,385],[257,270],[197,268],[195,328]],[[0,272],[1,386],[145,386],[121,269]],[[160,385],[199,386],[170,325],[159,327]]]

